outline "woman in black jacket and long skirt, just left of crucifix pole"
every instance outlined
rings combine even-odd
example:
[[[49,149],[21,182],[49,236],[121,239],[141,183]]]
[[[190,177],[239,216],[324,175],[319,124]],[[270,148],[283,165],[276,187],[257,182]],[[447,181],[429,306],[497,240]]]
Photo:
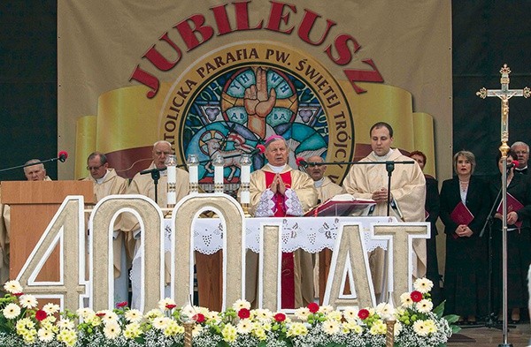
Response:
[[[487,314],[487,238],[479,235],[489,215],[489,185],[473,177],[472,152],[456,153],[453,164],[457,176],[445,180],[441,189],[441,220],[446,233],[445,312],[473,323],[476,317]],[[456,207],[461,216],[466,215],[463,210],[470,211],[465,218],[469,221],[458,222]]]

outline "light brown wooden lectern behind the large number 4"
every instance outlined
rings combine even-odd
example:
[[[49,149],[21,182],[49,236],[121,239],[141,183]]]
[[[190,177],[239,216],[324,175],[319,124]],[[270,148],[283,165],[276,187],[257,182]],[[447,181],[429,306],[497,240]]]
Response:
[[[29,254],[68,195],[82,195],[85,203],[95,203],[90,181],[4,181],[2,203],[11,207],[11,279],[19,275]],[[59,280],[58,246],[44,264],[37,281]]]

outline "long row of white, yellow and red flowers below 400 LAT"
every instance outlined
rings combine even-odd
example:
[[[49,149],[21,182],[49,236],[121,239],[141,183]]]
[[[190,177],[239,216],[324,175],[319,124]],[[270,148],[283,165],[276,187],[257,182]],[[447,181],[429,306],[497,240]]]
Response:
[[[119,347],[183,346],[185,325],[193,327],[192,345],[218,346],[385,346],[387,324],[395,323],[396,346],[444,346],[458,327],[458,316],[443,317],[443,305],[432,311],[426,279],[401,296],[401,306],[383,303],[374,308],[347,308],[312,303],[293,316],[266,309],[250,309],[238,300],[225,312],[204,307],[178,308],[171,298],[147,313],[119,303],[112,310],[94,312],[81,308],[58,313],[59,307],[38,307],[31,295],[22,294],[16,281],[4,284],[8,292],[0,299],[0,345],[19,347]]]

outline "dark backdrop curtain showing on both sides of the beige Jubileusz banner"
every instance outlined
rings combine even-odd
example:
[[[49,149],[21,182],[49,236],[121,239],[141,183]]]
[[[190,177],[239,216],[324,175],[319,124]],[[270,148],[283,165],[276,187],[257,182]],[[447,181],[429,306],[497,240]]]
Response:
[[[454,152],[471,150],[476,173],[490,175],[497,170],[500,102],[475,92],[500,87],[504,63],[511,87],[531,87],[531,0],[452,1],[452,12]],[[0,28],[2,169],[58,153],[57,0],[2,1]],[[514,98],[510,108],[510,142],[530,142],[531,100]],[[57,178],[57,163],[46,168]],[[22,170],[0,173],[0,180],[23,178]]]

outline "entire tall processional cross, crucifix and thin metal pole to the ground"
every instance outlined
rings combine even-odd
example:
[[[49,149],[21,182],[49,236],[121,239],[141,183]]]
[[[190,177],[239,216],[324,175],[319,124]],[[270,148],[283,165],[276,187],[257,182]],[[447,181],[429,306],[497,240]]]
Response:
[[[531,90],[528,87],[523,89],[509,89],[509,73],[511,69],[507,64],[504,64],[500,70],[502,78],[500,83],[502,84],[501,89],[485,89],[482,87],[479,92],[476,93],[481,99],[485,99],[488,96],[496,96],[502,102],[502,124],[501,124],[501,138],[502,145],[499,147],[499,150],[502,154],[503,167],[507,167],[507,152],[509,152],[510,147],[507,145],[509,140],[509,99],[513,96],[523,96],[528,98],[531,96]],[[512,346],[511,343],[507,343],[507,170],[502,170],[502,268],[503,268],[503,310],[504,310],[504,325],[503,325],[503,334],[504,342],[500,343],[498,346],[507,347]]]

